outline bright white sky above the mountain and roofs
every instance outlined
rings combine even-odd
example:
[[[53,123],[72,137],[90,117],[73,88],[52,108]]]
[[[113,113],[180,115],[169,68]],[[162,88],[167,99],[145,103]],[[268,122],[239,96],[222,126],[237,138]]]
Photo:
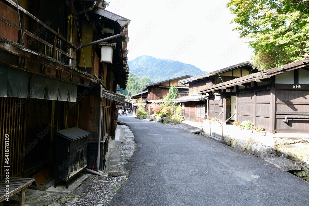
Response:
[[[130,19],[129,61],[148,55],[215,71],[250,61],[226,0],[110,0],[106,10]]]

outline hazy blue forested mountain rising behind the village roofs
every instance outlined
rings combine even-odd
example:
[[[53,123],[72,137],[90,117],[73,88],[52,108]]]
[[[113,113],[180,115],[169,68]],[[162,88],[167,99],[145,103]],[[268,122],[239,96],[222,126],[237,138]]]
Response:
[[[152,82],[160,82],[184,75],[197,76],[205,74],[201,69],[180,61],[167,59],[157,59],[155,57],[143,55],[133,61],[128,61],[130,73],[139,77],[149,78]]]

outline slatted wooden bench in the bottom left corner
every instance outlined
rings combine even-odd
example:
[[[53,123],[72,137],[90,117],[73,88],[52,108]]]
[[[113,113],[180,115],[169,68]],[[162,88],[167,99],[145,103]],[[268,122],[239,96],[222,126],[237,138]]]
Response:
[[[32,182],[35,179],[10,177],[8,180],[9,180],[8,183],[5,183],[5,179],[0,180],[0,202],[5,201],[6,204],[16,204],[16,201],[13,201],[10,199],[8,199],[9,201],[6,201],[5,199],[17,194],[19,195],[19,206],[24,206],[25,205],[25,189],[26,187],[32,185]],[[9,186],[8,194],[6,194],[6,190],[7,190],[6,185]]]

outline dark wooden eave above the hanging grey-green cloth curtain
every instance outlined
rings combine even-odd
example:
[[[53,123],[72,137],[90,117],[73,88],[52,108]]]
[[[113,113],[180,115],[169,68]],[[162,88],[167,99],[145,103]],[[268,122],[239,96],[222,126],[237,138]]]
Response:
[[[0,37],[0,53],[1,64],[33,74],[84,86],[89,85],[93,80],[104,82],[91,74],[66,65],[52,57],[32,51],[3,37]]]

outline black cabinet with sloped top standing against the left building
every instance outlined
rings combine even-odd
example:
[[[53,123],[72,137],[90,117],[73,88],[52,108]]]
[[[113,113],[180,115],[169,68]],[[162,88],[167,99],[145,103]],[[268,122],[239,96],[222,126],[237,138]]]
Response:
[[[57,181],[69,180],[87,166],[87,136],[91,133],[77,128],[62,129],[55,132],[55,187]]]

